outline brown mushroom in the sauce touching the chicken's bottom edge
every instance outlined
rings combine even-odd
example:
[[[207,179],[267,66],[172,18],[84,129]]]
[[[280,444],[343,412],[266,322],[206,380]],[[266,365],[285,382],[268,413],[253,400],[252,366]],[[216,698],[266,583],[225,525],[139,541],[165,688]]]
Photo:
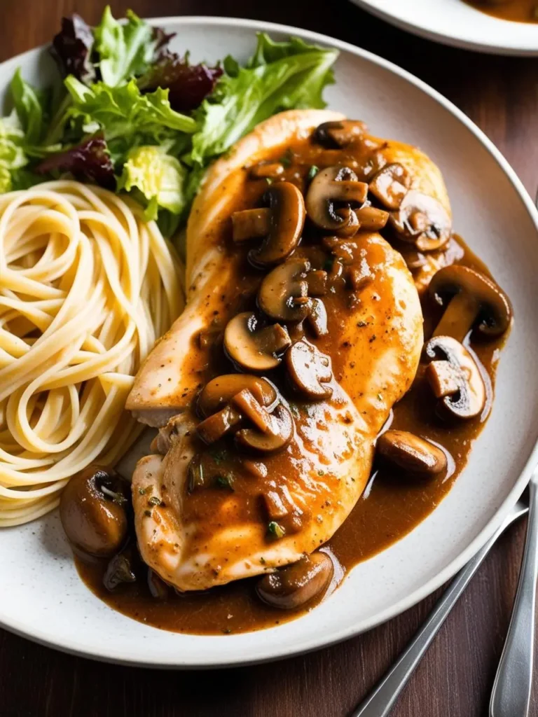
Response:
[[[259,597],[273,607],[292,610],[306,605],[326,590],[334,567],[321,552],[263,576],[256,586]]]

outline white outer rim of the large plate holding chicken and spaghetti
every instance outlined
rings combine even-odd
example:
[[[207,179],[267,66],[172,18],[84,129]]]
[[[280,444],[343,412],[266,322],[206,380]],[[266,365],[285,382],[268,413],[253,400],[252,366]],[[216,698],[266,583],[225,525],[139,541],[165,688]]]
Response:
[[[174,24],[212,24],[221,27],[229,27],[231,25],[232,27],[242,27],[253,32],[280,32],[284,34],[296,35],[310,42],[329,45],[331,47],[335,47],[336,49],[341,49],[344,52],[355,54],[358,57],[362,57],[365,60],[374,63],[374,65],[378,65],[379,67],[382,67],[385,70],[388,70],[389,72],[398,75],[403,80],[406,80],[407,82],[410,82],[410,84],[415,85],[415,87],[422,90],[423,92],[425,92],[426,95],[429,95],[430,98],[433,98],[433,100],[442,105],[445,110],[448,110],[450,114],[456,117],[478,139],[478,141],[481,142],[484,148],[486,148],[489,154],[494,158],[496,163],[499,164],[502,171],[504,171],[504,174],[507,176],[512,186],[514,186],[514,189],[519,195],[519,199],[522,200],[525,208],[527,209],[527,212],[532,218],[534,227],[537,229],[538,232],[537,208],[536,206],[534,206],[532,199],[530,198],[529,194],[527,193],[527,190],[522,184],[522,181],[516,175],[514,169],[511,168],[510,164],[508,163],[508,161],[506,161],[501,152],[496,148],[496,146],[494,146],[494,143],[492,143],[491,140],[489,140],[489,138],[482,132],[482,130],[479,129],[478,126],[475,125],[475,123],[473,123],[473,121],[470,120],[461,110],[459,110],[456,105],[451,103],[450,100],[447,100],[445,97],[443,97],[443,95],[440,94],[440,92],[434,90],[433,87],[430,87],[430,85],[423,82],[423,80],[420,80],[418,77],[415,77],[415,75],[412,75],[410,72],[407,72],[407,70],[402,70],[401,67],[398,67],[393,62],[384,60],[384,58],[379,57],[372,52],[356,47],[355,45],[349,44],[348,42],[329,37],[328,35],[272,22],[264,22],[251,19],[236,19],[225,16],[164,16],[159,18],[147,19],[147,22],[152,25],[169,26]],[[37,47],[34,49],[30,49],[27,52],[18,54],[15,57],[12,57],[9,60],[0,63],[0,69],[5,68],[6,65],[18,65],[24,60],[24,57],[29,54],[32,54],[36,49],[39,50],[42,48]],[[278,649],[275,649],[272,652],[266,652],[263,657],[237,657],[231,660],[217,662],[212,662],[209,660],[204,660],[203,662],[194,662],[190,660],[189,662],[181,663],[181,660],[179,660],[178,657],[174,657],[174,659],[169,660],[139,660],[136,657],[126,655],[126,653],[122,650],[115,650],[115,648],[111,645],[107,645],[106,650],[93,650],[88,649],[88,647],[85,647],[85,645],[83,645],[82,643],[77,642],[76,639],[55,641],[51,637],[49,637],[49,634],[47,632],[44,632],[42,630],[29,630],[23,622],[16,619],[12,619],[11,617],[6,618],[4,615],[1,614],[1,606],[0,627],[3,627],[10,632],[14,632],[16,635],[26,637],[29,640],[38,642],[41,645],[45,645],[46,647],[52,647],[57,650],[62,650],[62,652],[67,652],[71,655],[90,657],[92,659],[100,660],[106,663],[116,663],[120,665],[131,665],[146,668],[225,668],[240,665],[260,664],[271,662],[273,660],[280,660],[285,657],[303,655],[307,652],[312,652],[313,650],[319,650],[322,647],[329,647],[330,645],[344,642],[344,640],[349,640],[351,637],[355,637],[362,632],[367,632],[367,630],[371,630],[373,627],[377,627],[377,625],[381,625],[383,622],[387,622],[387,620],[396,617],[402,612],[405,612],[405,610],[410,609],[410,607],[413,607],[425,597],[428,597],[428,595],[435,592],[436,589],[441,587],[446,581],[453,577],[456,572],[458,572],[458,570],[460,570],[478,552],[478,550],[480,550],[484,546],[484,544],[489,541],[489,539],[498,530],[498,528],[504,522],[511,508],[516,503],[516,500],[518,500],[518,498],[522,494],[527,483],[529,483],[532,470],[534,470],[534,467],[537,464],[538,442],[534,444],[534,447],[529,454],[527,462],[524,465],[524,469],[522,470],[522,473],[519,475],[519,477],[514,480],[514,485],[511,488],[509,494],[506,496],[505,500],[499,505],[499,508],[497,508],[496,513],[491,518],[489,523],[486,524],[481,533],[478,533],[478,536],[476,536],[476,538],[474,538],[474,540],[469,543],[465,550],[461,551],[461,553],[456,559],[453,559],[453,561],[451,561],[447,566],[445,566],[443,570],[439,571],[438,574],[433,576],[433,578],[425,582],[419,589],[416,589],[405,599],[401,599],[400,601],[391,605],[389,608],[384,609],[382,612],[375,614],[374,617],[372,617],[371,619],[365,620],[360,627],[357,627],[357,625],[351,625],[349,627],[339,630],[338,632],[335,632],[333,635],[330,635],[327,638],[320,639],[319,637],[313,637],[309,642],[306,642],[306,644],[303,643],[300,648],[294,648],[293,645],[283,645],[282,647],[278,647]],[[226,640],[227,637],[222,635],[218,636],[216,639]]]

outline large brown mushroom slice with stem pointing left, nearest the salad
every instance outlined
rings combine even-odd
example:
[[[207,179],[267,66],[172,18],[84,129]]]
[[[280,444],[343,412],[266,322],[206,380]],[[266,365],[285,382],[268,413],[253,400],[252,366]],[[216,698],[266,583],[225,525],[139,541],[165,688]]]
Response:
[[[303,195],[295,184],[279,181],[263,195],[263,209],[245,209],[232,214],[235,242],[265,237],[260,247],[251,249],[249,261],[256,267],[283,262],[301,241],[305,220]]]

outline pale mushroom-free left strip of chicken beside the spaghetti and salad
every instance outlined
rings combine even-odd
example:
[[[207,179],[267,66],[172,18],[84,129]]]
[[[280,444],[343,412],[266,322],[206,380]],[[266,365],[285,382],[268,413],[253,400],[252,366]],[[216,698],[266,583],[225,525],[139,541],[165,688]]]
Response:
[[[322,122],[344,115],[329,110],[292,110],[260,123],[209,169],[187,224],[187,306],[156,343],[138,371],[126,402],[139,421],[164,426],[169,417],[188,407],[199,389],[199,366],[206,360],[193,337],[209,327],[220,310],[222,287],[234,282],[237,257],[225,252],[223,229],[242,205],[247,173],[252,165],[279,150],[286,141],[307,138]],[[185,348],[195,351],[184,361]],[[179,360],[176,358],[179,356]]]

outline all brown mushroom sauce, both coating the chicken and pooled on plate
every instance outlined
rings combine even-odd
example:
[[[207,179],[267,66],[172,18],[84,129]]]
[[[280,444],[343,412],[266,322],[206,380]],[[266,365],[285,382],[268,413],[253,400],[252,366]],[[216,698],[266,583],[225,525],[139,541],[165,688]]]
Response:
[[[346,128],[347,131],[348,128]],[[336,134],[336,138],[340,138],[339,134]],[[326,143],[323,146],[315,141],[301,141],[295,146],[280,148],[280,151],[276,151],[274,156],[267,158],[263,165],[255,168],[245,167],[245,172],[250,179],[247,181],[247,191],[242,193],[242,196],[237,197],[235,210],[240,212],[245,209],[267,206],[267,199],[264,199],[264,194],[268,186],[271,186],[273,182],[287,181],[295,184],[304,195],[314,172],[319,169],[329,166],[346,166],[352,169],[358,181],[368,182],[371,181],[375,172],[379,171],[383,166],[383,161],[379,160],[379,152],[377,151],[379,144],[365,140],[361,132],[354,136],[351,145],[343,148],[339,148],[336,141],[331,140],[331,142],[331,145]],[[372,201],[372,206],[377,206],[380,210],[384,209],[375,200]],[[357,209],[358,213],[360,212],[358,206],[354,207],[354,209]],[[348,217],[345,212],[343,216],[344,218]],[[386,215],[384,215],[384,219],[386,220]],[[381,224],[384,224],[384,222],[381,222]],[[275,316],[273,318],[263,318],[263,314],[257,305],[256,295],[260,281],[263,277],[268,276],[272,270],[274,271],[274,265],[261,269],[259,264],[258,267],[253,266],[248,261],[247,256],[248,252],[253,250],[253,247],[260,246],[260,242],[263,239],[253,239],[252,242],[245,242],[245,248],[238,249],[238,245],[234,245],[232,241],[231,222],[230,226],[223,231],[228,232],[227,251],[230,255],[230,261],[236,267],[235,276],[237,281],[235,285],[228,286],[227,292],[222,293],[219,300],[214,303],[213,326],[199,336],[196,346],[191,347],[189,356],[192,358],[192,371],[199,376],[200,390],[214,377],[222,376],[222,374],[232,374],[235,370],[234,364],[226,356],[223,348],[223,336],[227,321],[221,320],[221,315],[226,315],[229,318],[230,315],[235,316],[241,312],[255,313],[261,321],[260,326],[256,327],[258,331],[260,328],[263,330],[263,326],[270,326],[277,322],[276,315],[280,310],[279,301],[273,300],[273,313]],[[408,240],[399,241],[395,237],[394,227],[390,224],[380,229],[380,232],[398,250],[402,251],[407,265],[415,274],[415,277],[420,277],[422,281],[423,253],[410,244]],[[286,323],[284,320],[281,323],[289,331],[292,342],[303,338],[306,340],[307,346],[303,347],[303,353],[308,349],[308,342],[314,341],[318,351],[330,357],[332,374],[334,380],[338,381],[344,366],[346,366],[346,348],[349,347],[333,345],[330,327],[331,323],[334,326],[334,322],[339,321],[339,316],[343,317],[349,311],[357,310],[357,306],[360,305],[361,288],[367,285],[369,281],[369,257],[364,257],[364,254],[360,256],[354,255],[356,247],[354,247],[352,237],[351,239],[334,237],[334,235],[326,233],[321,236],[325,238],[320,240],[320,234],[316,228],[313,227],[311,222],[307,221],[304,226],[301,244],[288,261],[303,260],[310,263],[313,270],[310,280],[304,280],[301,284],[301,280],[294,279],[293,295],[299,299],[297,305],[301,305],[301,301],[306,303],[308,297],[319,297],[316,298],[316,301],[321,302],[323,305],[325,320],[329,316],[329,332],[324,332],[323,326],[321,326],[321,331],[319,326],[316,330],[316,321],[311,318],[305,320],[302,328],[298,328],[293,323]],[[456,235],[453,235],[441,250],[430,252],[429,255],[437,257],[440,266],[456,263],[489,275],[482,262],[468,250],[463,241]],[[372,257],[372,264],[375,263],[374,258]],[[349,272],[349,264],[354,265],[354,272]],[[428,277],[424,280],[423,288],[427,286],[427,279]],[[427,291],[422,291],[421,295],[425,315],[425,338],[428,339],[433,335],[435,326],[437,326],[443,315],[443,307],[433,302],[428,297]],[[382,297],[379,297],[379,300],[382,301]],[[320,308],[319,305],[317,308]],[[357,331],[366,332],[369,341],[377,340],[375,329],[369,325],[368,320],[359,320]],[[442,447],[447,457],[446,467],[437,475],[429,475],[426,478],[422,475],[413,478],[405,475],[395,465],[390,465],[390,462],[388,465],[384,461],[377,461],[374,464],[367,488],[354,510],[333,538],[321,547],[321,551],[330,557],[334,566],[329,585],[321,593],[321,597],[318,595],[306,604],[299,604],[298,607],[293,609],[283,610],[263,602],[258,597],[257,586],[260,584],[260,579],[258,578],[237,581],[224,587],[206,591],[203,594],[176,594],[155,574],[150,572],[148,576],[148,569],[141,562],[134,548],[133,538],[131,538],[131,546],[127,547],[127,552],[124,551],[121,554],[121,561],[123,561],[124,556],[128,558],[128,564],[133,574],[136,575],[136,581],[124,582],[113,592],[109,592],[103,587],[103,576],[107,570],[107,561],[97,559],[82,561],[80,557],[77,557],[77,567],[82,578],[95,594],[98,594],[101,599],[119,612],[141,620],[148,625],[176,632],[217,635],[230,632],[247,632],[278,625],[298,617],[306,610],[312,609],[320,599],[325,599],[331,594],[341,583],[346,572],[355,564],[373,556],[399,538],[402,538],[402,536],[405,536],[417,523],[420,523],[428,516],[428,513],[433,511],[443,496],[450,490],[454,480],[466,465],[473,441],[489,414],[496,363],[499,359],[499,349],[505,338],[506,335],[494,338],[489,337],[488,341],[473,338],[473,356],[480,362],[481,369],[483,369],[482,374],[486,384],[486,403],[478,417],[466,421],[447,423],[438,417],[438,414],[436,414],[437,401],[433,397],[432,389],[425,376],[427,364],[421,364],[412,389],[395,406],[385,428],[391,427],[392,429],[411,432],[429,440],[435,446]],[[468,338],[466,339],[466,346],[468,346]],[[296,356],[296,366],[299,366],[301,360],[303,360],[303,353],[299,352],[298,356]],[[279,376],[285,375],[285,364],[290,364],[290,358],[288,358],[287,362],[281,362],[278,367]],[[326,361],[320,360],[319,368],[323,375],[319,377],[317,382],[313,381],[313,384],[320,394],[324,394],[325,391],[329,393],[326,390],[328,389]],[[354,366],[347,366],[346,369],[354,369],[359,375],[359,366],[356,369]],[[248,373],[246,369],[243,370]],[[291,370],[293,374],[292,366],[288,366],[287,370]],[[288,402],[293,421],[297,424],[307,414],[310,414],[310,419],[315,419],[316,411],[320,405],[319,397],[312,394],[309,399],[308,389],[305,386],[301,386],[301,381],[299,381],[299,385],[296,382],[295,386],[291,386],[293,376],[291,376],[291,381],[289,376],[284,381],[281,378],[275,379],[274,373],[274,371],[268,371],[263,375],[266,375],[270,381],[275,381],[276,388],[285,398],[285,401]],[[226,377],[223,376],[223,378]],[[306,378],[308,378],[308,381],[311,380],[311,377]],[[308,381],[306,381],[307,384]],[[247,381],[245,386],[241,387],[247,389],[249,386],[250,395],[247,395],[247,398],[251,400],[252,396],[258,396],[261,400],[260,409],[267,412],[267,414],[264,414],[265,418],[262,416],[261,419],[278,422],[278,417],[274,415],[276,411],[275,405],[268,406],[269,399],[267,401],[261,399],[260,391],[256,389],[253,381]],[[241,387],[239,387],[239,390]],[[228,389],[223,391],[223,395],[227,394],[227,391]],[[218,393],[218,391],[212,391],[212,396],[214,394],[213,399],[218,397]],[[185,398],[189,401],[197,400],[196,396],[186,396]],[[226,419],[230,419],[231,412],[233,422],[233,412],[237,412],[237,406],[240,404],[228,401],[227,395],[225,399],[227,401],[226,405],[230,406]],[[202,402],[204,400],[202,399]],[[280,406],[282,405],[280,404]],[[222,409],[222,403],[219,404],[218,401],[216,403],[214,401],[214,404],[208,404],[208,406],[211,412],[217,412]],[[204,410],[199,411],[201,418],[207,414],[208,406],[205,406],[204,403]],[[280,416],[280,419],[282,419],[282,416]],[[251,422],[248,426],[253,429],[254,424]],[[242,427],[245,427],[245,425]],[[215,494],[218,490],[232,490],[235,481],[237,481],[237,486],[240,486],[241,490],[248,490],[247,486],[252,485],[252,477],[255,477],[257,472],[259,476],[264,476],[264,471],[265,473],[267,472],[267,468],[264,465],[265,454],[260,455],[260,457],[242,455],[241,446],[233,442],[233,431],[235,429],[232,429],[231,435],[217,440],[209,447],[205,447],[203,453],[200,454],[202,457],[197,458],[199,462],[205,462],[204,478],[202,478],[200,486],[191,485],[192,493],[189,501],[187,501],[189,511],[203,511],[204,516],[210,515],[212,500],[215,499]],[[280,443],[284,445],[285,436]],[[233,450],[230,450],[230,446],[232,446]],[[272,465],[275,465],[274,461],[278,461],[278,451],[273,453],[270,460],[273,461]],[[298,468],[298,470],[300,469]],[[192,466],[192,474],[193,480],[196,482],[197,476],[199,478],[200,475],[196,461]],[[247,477],[248,474],[250,474],[250,482]],[[209,490],[206,490],[208,475],[210,477]],[[278,513],[278,500],[273,505],[271,496],[268,495],[265,505],[260,505],[259,497],[259,495],[253,495],[250,509],[258,512],[265,511],[265,516],[270,521],[271,511]],[[300,521],[300,516],[294,516],[292,512],[285,519],[279,520],[278,526],[282,525],[286,531],[293,531],[293,521],[296,519]],[[185,520],[189,521],[188,513],[185,516]],[[288,522],[286,523],[286,521]],[[212,526],[209,520],[207,530],[211,531],[211,529]],[[273,537],[278,539],[278,535]],[[123,568],[120,574],[122,572],[124,572]],[[128,571],[126,571],[126,579],[130,579]],[[154,596],[159,596],[159,598]],[[292,603],[301,603],[301,600],[294,598]]]

